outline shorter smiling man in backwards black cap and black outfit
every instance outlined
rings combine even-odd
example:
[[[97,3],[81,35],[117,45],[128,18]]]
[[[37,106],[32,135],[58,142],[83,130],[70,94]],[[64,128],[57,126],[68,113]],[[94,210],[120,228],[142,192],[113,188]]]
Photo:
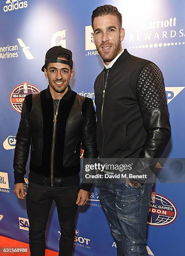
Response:
[[[54,46],[42,67],[48,88],[23,102],[14,155],[14,192],[25,198],[24,174],[31,145],[26,206],[31,256],[45,255],[45,230],[53,200],[61,227],[60,256],[71,256],[77,205],[85,205],[91,184],[79,187],[80,150],[96,157],[96,117],[93,101],[69,86],[72,52]]]

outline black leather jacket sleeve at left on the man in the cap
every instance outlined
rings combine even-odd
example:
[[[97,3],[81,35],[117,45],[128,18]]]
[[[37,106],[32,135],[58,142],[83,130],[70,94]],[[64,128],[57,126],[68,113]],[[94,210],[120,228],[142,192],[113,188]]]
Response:
[[[16,135],[15,153],[13,159],[14,183],[24,183],[24,175],[26,173],[26,163],[30,151],[31,125],[28,113],[26,99],[23,102],[21,118]]]

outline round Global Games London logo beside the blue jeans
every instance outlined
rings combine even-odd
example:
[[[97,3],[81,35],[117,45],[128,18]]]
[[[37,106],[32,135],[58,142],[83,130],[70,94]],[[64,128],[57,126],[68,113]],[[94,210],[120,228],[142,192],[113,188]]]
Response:
[[[167,197],[152,191],[148,224],[152,226],[164,226],[171,224],[177,218],[177,209]]]

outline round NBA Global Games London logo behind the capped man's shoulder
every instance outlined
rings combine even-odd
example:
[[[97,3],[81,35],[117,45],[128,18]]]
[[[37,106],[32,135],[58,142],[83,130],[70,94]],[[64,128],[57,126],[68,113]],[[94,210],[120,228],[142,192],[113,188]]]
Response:
[[[15,111],[21,113],[26,95],[39,92],[40,90],[35,85],[29,84],[28,82],[18,84],[10,93],[10,104]]]

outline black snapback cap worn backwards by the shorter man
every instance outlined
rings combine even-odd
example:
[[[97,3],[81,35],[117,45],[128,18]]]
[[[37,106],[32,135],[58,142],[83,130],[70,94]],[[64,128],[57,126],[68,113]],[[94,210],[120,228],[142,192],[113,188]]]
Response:
[[[58,54],[68,54],[69,60],[58,59]],[[46,52],[45,64],[43,65],[41,70],[44,72],[45,65],[53,62],[67,64],[72,69],[73,68],[72,52],[66,48],[63,48],[62,46],[53,46]]]

